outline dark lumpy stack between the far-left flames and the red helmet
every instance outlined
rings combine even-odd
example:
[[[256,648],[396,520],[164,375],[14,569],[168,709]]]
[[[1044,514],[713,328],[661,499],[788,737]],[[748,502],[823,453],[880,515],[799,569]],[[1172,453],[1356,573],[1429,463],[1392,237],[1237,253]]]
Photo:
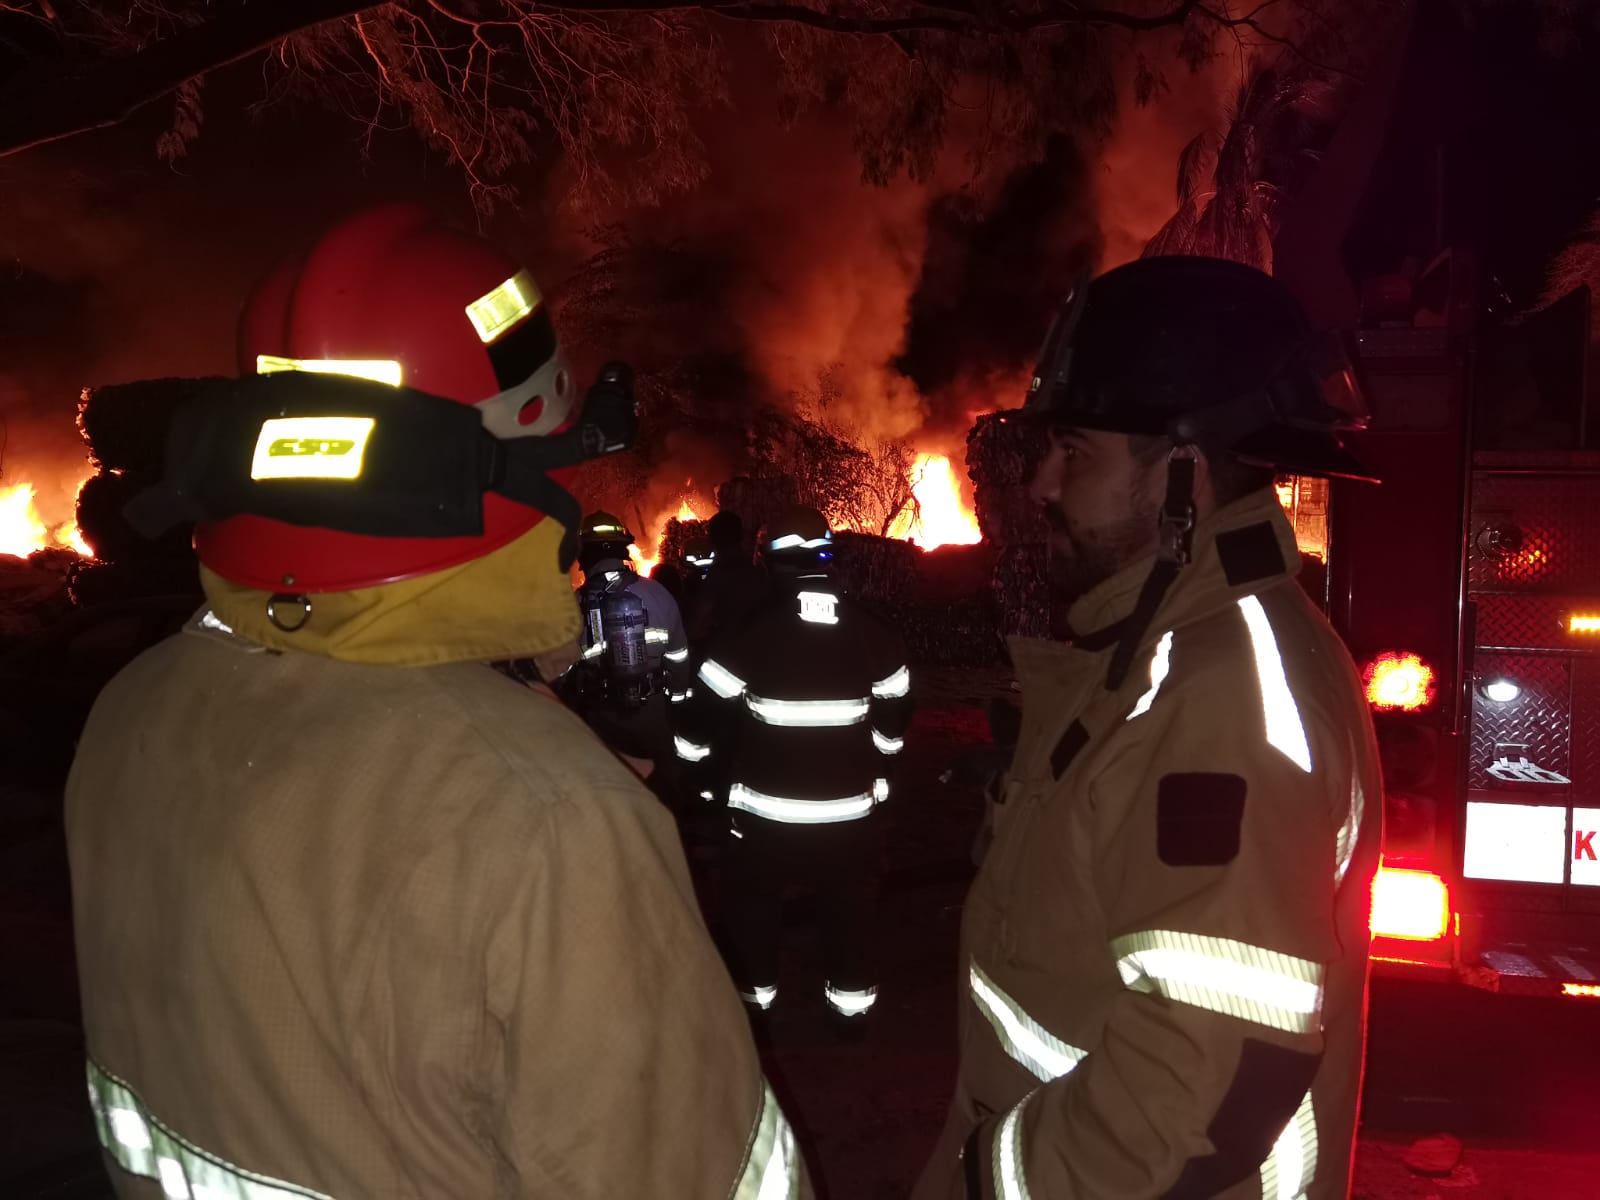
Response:
[[[211,379],[146,379],[85,387],[78,430],[96,472],[78,491],[78,530],[94,562],[72,574],[72,600],[98,605],[152,595],[194,595],[200,578],[190,549],[194,526],[150,541],[122,515],[123,506],[162,475],[173,413]]]

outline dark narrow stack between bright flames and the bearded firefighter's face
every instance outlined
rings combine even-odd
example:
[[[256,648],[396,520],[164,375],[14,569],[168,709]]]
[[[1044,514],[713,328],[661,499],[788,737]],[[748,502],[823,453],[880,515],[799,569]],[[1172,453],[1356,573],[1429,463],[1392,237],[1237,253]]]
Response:
[[[966,467],[973,477],[978,526],[998,547],[990,590],[1002,634],[1048,637],[1050,587],[1045,544],[1050,526],[1029,501],[1027,485],[1045,451],[1037,430],[989,413],[966,435]]]

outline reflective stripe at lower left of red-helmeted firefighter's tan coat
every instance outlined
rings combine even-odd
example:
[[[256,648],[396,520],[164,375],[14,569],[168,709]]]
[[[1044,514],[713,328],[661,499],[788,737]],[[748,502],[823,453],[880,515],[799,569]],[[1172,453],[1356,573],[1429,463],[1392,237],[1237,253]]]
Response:
[[[101,1146],[130,1174],[160,1181],[173,1200],[330,1200],[202,1150],[152,1117],[139,1094],[94,1059],[88,1080]]]

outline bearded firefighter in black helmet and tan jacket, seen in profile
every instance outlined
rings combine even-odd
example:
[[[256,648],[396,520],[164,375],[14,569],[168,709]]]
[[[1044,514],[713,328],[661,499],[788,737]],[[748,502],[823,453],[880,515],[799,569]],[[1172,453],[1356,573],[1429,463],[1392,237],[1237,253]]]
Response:
[[[1221,259],[1062,309],[1021,419],[1072,642],[1011,645],[1021,738],[918,1200],[1347,1195],[1382,794],[1272,488],[1365,475],[1347,368]]]

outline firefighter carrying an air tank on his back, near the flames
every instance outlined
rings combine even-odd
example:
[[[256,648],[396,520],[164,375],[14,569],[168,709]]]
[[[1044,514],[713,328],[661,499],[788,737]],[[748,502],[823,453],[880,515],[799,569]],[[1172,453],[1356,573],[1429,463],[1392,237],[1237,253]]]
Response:
[[[634,570],[632,544],[634,534],[610,512],[584,517],[581,659],[565,691],[608,746],[661,766],[672,758],[667,707],[688,699],[693,667],[678,605]]]

